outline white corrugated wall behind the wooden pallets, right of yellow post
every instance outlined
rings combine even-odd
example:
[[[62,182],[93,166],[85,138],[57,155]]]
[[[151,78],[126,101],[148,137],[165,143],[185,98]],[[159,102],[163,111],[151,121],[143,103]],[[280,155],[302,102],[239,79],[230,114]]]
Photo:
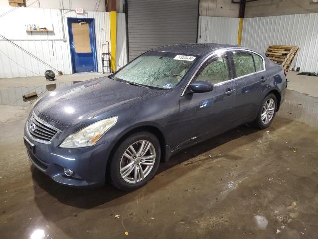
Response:
[[[264,53],[269,45],[295,45],[301,71],[318,71],[318,13],[244,19],[242,45]]]

